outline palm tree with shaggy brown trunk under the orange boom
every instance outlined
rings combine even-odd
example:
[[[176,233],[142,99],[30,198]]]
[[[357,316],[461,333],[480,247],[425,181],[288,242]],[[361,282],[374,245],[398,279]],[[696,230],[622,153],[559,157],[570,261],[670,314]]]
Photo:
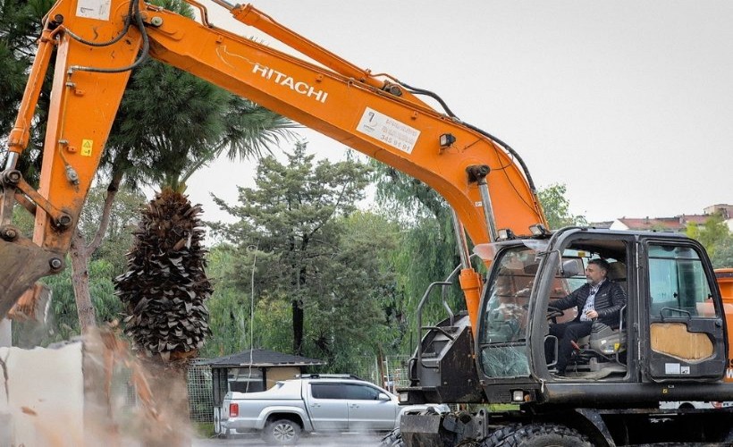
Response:
[[[167,9],[190,13],[185,4]],[[162,63],[132,76],[108,147],[125,155],[140,181],[160,188],[143,208],[128,270],[115,279],[124,306],[124,331],[151,370],[156,400],[188,414],[188,401],[168,384],[184,383],[208,328],[204,230],[200,206],[184,195],[192,173],[217,156],[260,156],[291,137],[292,122]],[[165,445],[184,443],[184,430],[161,434]],[[180,427],[179,427],[180,428]],[[173,437],[171,437],[173,436]],[[178,439],[178,441],[176,441]],[[153,444],[156,441],[152,441]]]

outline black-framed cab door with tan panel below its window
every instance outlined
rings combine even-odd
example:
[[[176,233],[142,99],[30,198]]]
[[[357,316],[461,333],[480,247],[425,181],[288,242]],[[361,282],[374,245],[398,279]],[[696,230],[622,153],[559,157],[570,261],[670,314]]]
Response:
[[[649,324],[640,331],[646,338],[647,380],[720,379],[726,367],[725,321],[704,250],[685,239],[650,239],[643,247],[641,286]]]

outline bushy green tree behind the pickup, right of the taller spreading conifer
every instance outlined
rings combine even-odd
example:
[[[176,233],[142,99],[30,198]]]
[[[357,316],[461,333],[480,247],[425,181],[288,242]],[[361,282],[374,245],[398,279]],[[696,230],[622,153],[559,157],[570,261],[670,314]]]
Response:
[[[356,357],[383,356],[399,346],[405,333],[390,258],[400,227],[367,212],[337,223],[343,227],[338,249],[322,268],[325,300],[308,308],[312,321],[323,324],[309,325],[306,338],[316,348],[308,352],[326,358],[333,371],[349,371]]]

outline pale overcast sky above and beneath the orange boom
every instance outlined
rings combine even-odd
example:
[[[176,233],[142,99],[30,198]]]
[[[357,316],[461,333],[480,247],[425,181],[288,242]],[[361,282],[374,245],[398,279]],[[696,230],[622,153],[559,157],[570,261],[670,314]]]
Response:
[[[254,5],[351,63],[438,93],[517,150],[538,187],[565,183],[574,214],[603,221],[733,203],[733,2]],[[220,7],[209,13],[217,26],[256,32]],[[299,133],[321,156],[346,150]],[[251,164],[220,160],[191,179],[206,220],[226,216],[209,192],[234,203],[235,185],[253,184]]]

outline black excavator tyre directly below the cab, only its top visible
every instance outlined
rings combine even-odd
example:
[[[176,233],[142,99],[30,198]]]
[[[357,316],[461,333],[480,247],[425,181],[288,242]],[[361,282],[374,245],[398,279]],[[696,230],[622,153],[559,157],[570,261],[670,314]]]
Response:
[[[577,430],[555,424],[521,426],[493,445],[496,447],[593,447],[590,440]]]

